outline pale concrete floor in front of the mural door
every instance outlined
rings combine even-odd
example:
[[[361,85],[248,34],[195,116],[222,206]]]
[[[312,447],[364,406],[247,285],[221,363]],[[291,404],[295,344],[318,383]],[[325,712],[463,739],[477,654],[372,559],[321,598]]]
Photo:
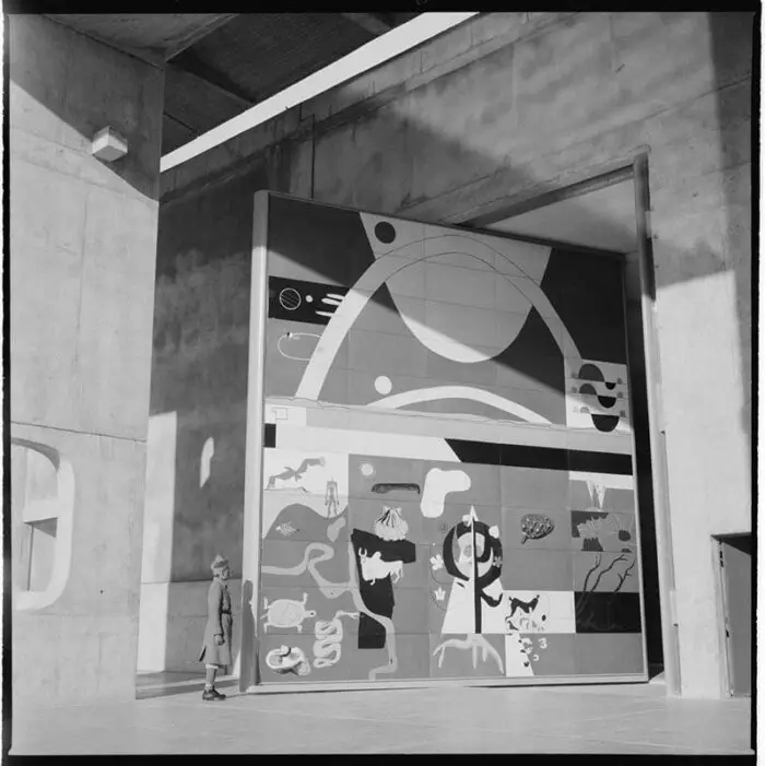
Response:
[[[12,755],[132,753],[748,754],[749,699],[642,685],[380,690],[200,699],[199,676],[139,680],[139,699],[13,715]],[[44,722],[43,722],[44,721]]]

